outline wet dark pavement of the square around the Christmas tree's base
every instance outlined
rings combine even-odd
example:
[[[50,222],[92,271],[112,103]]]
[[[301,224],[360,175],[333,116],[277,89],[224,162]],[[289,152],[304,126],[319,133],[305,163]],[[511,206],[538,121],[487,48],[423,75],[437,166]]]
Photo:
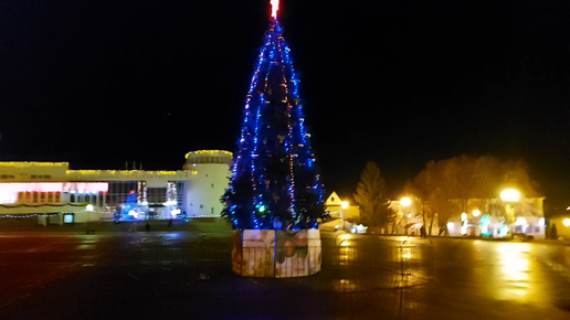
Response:
[[[192,238],[187,233],[0,236],[0,319],[570,319],[569,246],[433,238],[433,275],[404,289],[374,289],[377,271],[342,278],[328,265],[309,278],[240,278],[222,263],[226,253],[209,256],[204,260],[214,264],[198,269],[178,247],[169,254],[181,262],[182,273],[168,265],[161,276],[118,267],[137,243],[159,236]],[[355,253],[370,245],[346,237],[346,248]],[[361,270],[350,257],[347,267]]]

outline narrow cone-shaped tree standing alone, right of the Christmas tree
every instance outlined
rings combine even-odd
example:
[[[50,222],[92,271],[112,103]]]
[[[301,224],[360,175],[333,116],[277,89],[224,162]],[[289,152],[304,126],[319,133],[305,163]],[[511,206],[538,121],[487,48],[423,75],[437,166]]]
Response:
[[[366,163],[353,195],[365,223],[386,227],[393,222],[395,212],[389,206],[388,186],[374,162]]]

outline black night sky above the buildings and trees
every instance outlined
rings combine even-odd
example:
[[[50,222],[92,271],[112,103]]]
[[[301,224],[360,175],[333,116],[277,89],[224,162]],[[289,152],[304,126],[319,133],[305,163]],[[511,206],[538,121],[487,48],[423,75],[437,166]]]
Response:
[[[282,0],[327,190],[367,160],[525,159],[570,194],[570,6]],[[268,0],[0,1],[0,160],[180,169],[233,150]]]

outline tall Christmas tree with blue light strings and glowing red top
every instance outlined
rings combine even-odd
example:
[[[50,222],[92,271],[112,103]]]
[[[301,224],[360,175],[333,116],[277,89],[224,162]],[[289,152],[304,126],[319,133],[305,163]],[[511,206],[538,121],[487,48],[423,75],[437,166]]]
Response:
[[[271,4],[222,216],[235,230],[314,228],[324,211],[323,184],[305,127],[299,81],[277,20],[278,0]]]

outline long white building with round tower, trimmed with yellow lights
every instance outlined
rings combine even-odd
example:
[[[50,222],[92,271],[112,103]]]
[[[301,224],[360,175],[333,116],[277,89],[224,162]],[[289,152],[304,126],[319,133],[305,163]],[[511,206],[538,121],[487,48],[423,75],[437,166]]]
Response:
[[[0,217],[42,224],[220,216],[232,153],[186,154],[178,171],[70,170],[67,162],[0,162]]]

